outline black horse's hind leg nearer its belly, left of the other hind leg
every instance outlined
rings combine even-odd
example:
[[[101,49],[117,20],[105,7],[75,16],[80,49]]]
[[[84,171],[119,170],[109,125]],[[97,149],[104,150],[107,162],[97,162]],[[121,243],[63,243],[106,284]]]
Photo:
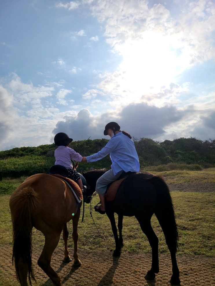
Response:
[[[152,248],[152,266],[151,269],[147,272],[145,278],[146,280],[154,280],[155,273],[159,272],[158,238],[152,229],[150,218],[137,218],[137,220],[139,221],[140,227],[147,236],[149,244]]]

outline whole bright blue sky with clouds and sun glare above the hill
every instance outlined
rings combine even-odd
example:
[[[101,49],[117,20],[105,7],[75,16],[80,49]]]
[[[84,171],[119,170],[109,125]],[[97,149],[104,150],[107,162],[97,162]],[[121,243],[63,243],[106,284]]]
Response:
[[[215,139],[214,0],[0,0],[0,151]]]

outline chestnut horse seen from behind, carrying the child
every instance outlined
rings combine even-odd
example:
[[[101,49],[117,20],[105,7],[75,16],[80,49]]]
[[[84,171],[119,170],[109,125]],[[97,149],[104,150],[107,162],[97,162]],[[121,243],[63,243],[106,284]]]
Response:
[[[35,280],[32,269],[32,228],[45,236],[45,245],[38,259],[38,265],[49,276],[54,285],[62,286],[60,277],[51,267],[52,253],[58,245],[63,230],[65,244],[63,261],[69,262],[67,222],[72,219],[74,242],[73,266],[80,266],[78,259],[78,220],[82,201],[77,202],[69,186],[59,177],[36,174],[25,180],[10,198],[13,224],[13,262],[21,286]]]

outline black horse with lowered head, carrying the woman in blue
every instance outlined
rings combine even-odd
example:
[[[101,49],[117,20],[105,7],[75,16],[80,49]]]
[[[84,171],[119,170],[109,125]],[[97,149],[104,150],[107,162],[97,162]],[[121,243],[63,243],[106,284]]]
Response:
[[[105,170],[93,170],[83,173],[87,181],[88,196],[95,192],[96,181],[104,173]],[[169,188],[164,180],[148,172],[133,173],[122,182],[115,199],[113,201],[106,200],[105,208],[115,238],[116,248],[113,256],[120,256],[121,247],[123,246],[123,216],[135,216],[137,218],[152,248],[152,266],[145,276],[146,280],[154,280],[155,273],[159,272],[158,238],[151,226],[151,217],[155,213],[165,235],[172,259],[170,283],[179,285],[179,269],[176,261],[178,230]],[[118,214],[119,238],[114,213]]]

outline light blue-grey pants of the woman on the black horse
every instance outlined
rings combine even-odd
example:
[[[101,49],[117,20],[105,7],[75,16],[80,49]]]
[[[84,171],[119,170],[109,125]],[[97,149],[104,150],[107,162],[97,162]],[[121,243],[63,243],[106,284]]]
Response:
[[[113,170],[105,172],[96,182],[95,190],[99,195],[104,195],[107,189],[107,186],[117,180],[122,174],[123,170],[114,175]]]

